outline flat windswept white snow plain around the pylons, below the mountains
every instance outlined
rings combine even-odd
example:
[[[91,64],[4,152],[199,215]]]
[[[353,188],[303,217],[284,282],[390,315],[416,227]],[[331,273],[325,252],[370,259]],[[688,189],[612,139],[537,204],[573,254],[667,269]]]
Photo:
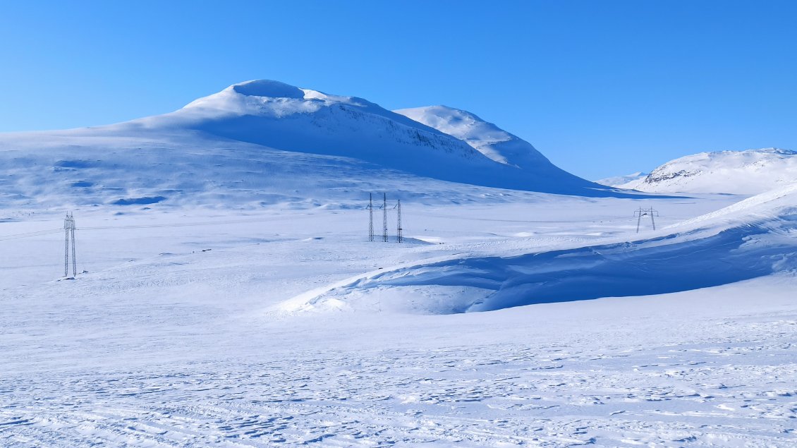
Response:
[[[795,238],[788,191],[730,210],[728,195],[493,199],[402,201],[406,244],[367,242],[363,201],[81,206],[89,272],[62,281],[63,234],[45,232],[61,215],[4,209],[0,445],[793,446],[797,277],[785,264],[707,289],[493,312],[442,314],[481,289],[428,284],[285,311],[440,260],[578,258],[618,241],[628,257],[658,246],[667,258],[693,242],[707,267],[724,252],[699,242],[740,222],[771,230],[749,246],[791,253]],[[662,210],[660,230],[634,233],[638,206]],[[556,273],[558,258],[523,269]]]

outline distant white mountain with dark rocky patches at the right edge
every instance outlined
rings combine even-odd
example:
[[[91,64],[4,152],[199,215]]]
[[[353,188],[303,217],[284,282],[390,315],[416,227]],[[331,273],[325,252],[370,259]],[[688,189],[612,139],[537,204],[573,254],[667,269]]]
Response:
[[[658,193],[757,195],[797,182],[797,151],[774,147],[701,152],[665,163],[643,179],[614,187]]]

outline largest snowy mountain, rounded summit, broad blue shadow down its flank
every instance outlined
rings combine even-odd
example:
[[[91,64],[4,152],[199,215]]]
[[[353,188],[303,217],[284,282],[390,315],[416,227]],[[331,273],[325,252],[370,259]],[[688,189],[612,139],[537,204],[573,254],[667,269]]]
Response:
[[[451,182],[626,195],[560,170],[493,125],[477,124],[446,133],[362,98],[248,81],[164,115],[0,135],[0,202],[260,204],[362,191],[445,197]]]

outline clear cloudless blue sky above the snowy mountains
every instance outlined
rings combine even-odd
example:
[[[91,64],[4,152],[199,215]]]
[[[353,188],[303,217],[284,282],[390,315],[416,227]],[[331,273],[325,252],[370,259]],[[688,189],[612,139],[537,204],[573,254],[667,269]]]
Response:
[[[0,132],[171,112],[250,79],[446,104],[587,179],[797,150],[797,2],[0,0]]]

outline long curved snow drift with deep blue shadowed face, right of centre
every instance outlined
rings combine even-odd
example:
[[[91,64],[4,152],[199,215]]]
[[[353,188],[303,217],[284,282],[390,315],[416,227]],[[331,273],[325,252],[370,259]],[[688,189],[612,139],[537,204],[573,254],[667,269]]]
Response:
[[[378,300],[409,312],[473,312],[725,285],[797,269],[795,201],[792,185],[655,238],[519,257],[453,257],[371,273],[296,297],[281,309]]]

